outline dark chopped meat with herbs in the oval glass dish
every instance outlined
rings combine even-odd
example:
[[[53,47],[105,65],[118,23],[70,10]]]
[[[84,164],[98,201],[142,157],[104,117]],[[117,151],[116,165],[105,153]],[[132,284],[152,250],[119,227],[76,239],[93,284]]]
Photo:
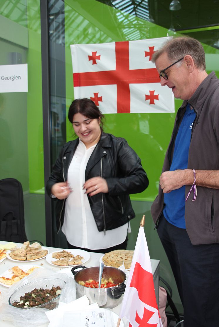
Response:
[[[12,305],[17,308],[35,307],[57,298],[60,294],[60,286],[53,286],[51,289],[35,288],[31,292],[25,293],[24,296],[20,297],[19,302],[13,302]],[[56,306],[56,303],[50,303],[46,308],[50,310],[54,309],[54,305]]]

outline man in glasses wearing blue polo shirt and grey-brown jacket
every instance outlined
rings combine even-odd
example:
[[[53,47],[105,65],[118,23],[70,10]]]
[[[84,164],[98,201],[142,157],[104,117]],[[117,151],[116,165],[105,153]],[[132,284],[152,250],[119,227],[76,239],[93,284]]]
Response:
[[[183,101],[151,206],[184,307],[184,327],[219,326],[219,80],[193,38],[153,55],[161,85]]]

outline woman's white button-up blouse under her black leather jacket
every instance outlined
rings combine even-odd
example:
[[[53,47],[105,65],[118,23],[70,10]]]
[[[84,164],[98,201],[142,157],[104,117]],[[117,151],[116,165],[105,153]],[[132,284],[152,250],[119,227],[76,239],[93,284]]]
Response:
[[[79,139],[68,170],[68,183],[73,192],[65,202],[62,232],[68,242],[79,248],[91,250],[107,249],[125,241],[129,223],[110,231],[99,232],[92,214],[87,194],[84,194],[85,169],[95,148],[86,148]]]

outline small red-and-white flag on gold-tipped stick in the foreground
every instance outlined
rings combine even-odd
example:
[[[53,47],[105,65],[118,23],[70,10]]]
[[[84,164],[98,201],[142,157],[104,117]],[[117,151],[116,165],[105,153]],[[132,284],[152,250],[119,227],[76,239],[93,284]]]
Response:
[[[143,216],[142,221],[144,221]],[[126,284],[119,320],[126,317],[129,327],[163,327],[157,307],[153,274],[144,223],[140,224],[132,265]],[[119,321],[117,326],[119,326]]]

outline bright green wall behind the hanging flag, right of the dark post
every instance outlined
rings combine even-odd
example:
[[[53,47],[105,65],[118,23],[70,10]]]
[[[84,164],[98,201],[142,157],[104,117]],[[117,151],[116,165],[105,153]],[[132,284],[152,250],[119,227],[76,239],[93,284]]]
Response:
[[[166,37],[167,29],[119,12],[95,0],[65,0],[66,42],[66,112],[74,98],[70,44],[107,43]],[[132,41],[134,39],[132,38]],[[205,46],[207,52],[218,50]],[[213,50],[212,50],[213,49]],[[175,111],[182,101],[175,99]],[[170,140],[176,113],[105,114],[105,132],[124,137],[137,152],[149,177],[149,187],[133,200],[153,201],[158,193],[159,177]],[[67,121],[67,141],[72,139],[72,127]]]

